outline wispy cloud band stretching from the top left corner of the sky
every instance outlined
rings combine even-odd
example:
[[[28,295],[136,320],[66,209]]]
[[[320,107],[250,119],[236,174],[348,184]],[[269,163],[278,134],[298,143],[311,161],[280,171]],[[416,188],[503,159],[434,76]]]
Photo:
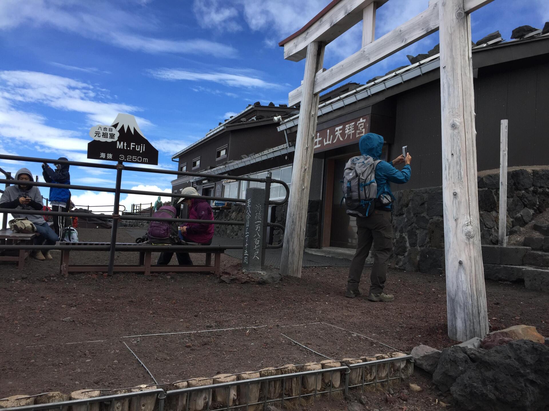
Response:
[[[100,16],[100,24],[97,24]],[[146,53],[206,54],[234,58],[231,45],[204,39],[163,39],[138,34],[159,30],[160,24],[150,11],[145,15],[117,9],[112,2],[74,0],[2,0],[0,30],[25,25],[46,26],[110,43],[116,47]]]

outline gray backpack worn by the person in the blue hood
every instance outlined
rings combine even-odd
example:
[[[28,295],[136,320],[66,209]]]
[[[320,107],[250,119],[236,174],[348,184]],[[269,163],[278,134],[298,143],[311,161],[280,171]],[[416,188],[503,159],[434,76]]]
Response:
[[[374,212],[377,198],[375,173],[380,161],[370,156],[357,156],[345,164],[342,188],[347,214],[367,217]]]

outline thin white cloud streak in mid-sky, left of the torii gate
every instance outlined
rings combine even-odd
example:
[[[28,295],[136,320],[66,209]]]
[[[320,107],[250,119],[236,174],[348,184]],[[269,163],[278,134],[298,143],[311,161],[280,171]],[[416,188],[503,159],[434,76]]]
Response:
[[[229,71],[230,69],[226,69]],[[229,72],[193,72],[177,68],[159,68],[152,70],[150,73],[161,80],[188,80],[188,81],[208,81],[228,85],[231,87],[244,88],[280,88],[281,86],[275,83],[268,83],[259,77],[255,72],[250,70],[231,70]],[[247,73],[253,75],[247,75]]]

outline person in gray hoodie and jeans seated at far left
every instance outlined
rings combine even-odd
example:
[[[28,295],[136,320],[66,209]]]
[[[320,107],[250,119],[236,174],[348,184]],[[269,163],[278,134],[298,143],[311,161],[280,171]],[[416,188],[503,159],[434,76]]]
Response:
[[[32,173],[27,168],[21,168],[15,173],[15,180],[34,181]],[[0,208],[12,208],[16,210],[40,210],[42,211],[43,202],[42,195],[38,187],[30,185],[14,185],[6,187],[0,197]],[[13,218],[27,218],[36,227],[36,232],[40,234],[35,239],[35,244],[41,245],[46,243],[48,246],[53,246],[59,239],[55,231],[53,231],[42,215],[18,214],[11,213]],[[37,260],[51,260],[52,256],[49,251],[42,253],[40,250],[35,250],[32,256]]]

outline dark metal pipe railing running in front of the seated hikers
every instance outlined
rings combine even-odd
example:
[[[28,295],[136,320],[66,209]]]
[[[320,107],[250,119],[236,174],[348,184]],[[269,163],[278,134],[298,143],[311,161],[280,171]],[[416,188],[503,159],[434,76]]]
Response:
[[[282,181],[282,180],[275,180],[271,178],[271,173],[267,174],[267,178],[259,179],[259,178],[250,178],[250,177],[243,177],[243,176],[227,176],[222,174],[208,174],[208,173],[191,173],[191,172],[180,172],[177,170],[164,170],[164,169],[156,169],[156,168],[141,168],[141,167],[135,167],[135,166],[128,166],[125,165],[122,162],[118,162],[115,164],[98,164],[98,163],[86,163],[86,162],[79,162],[79,161],[69,161],[69,160],[60,160],[60,159],[50,159],[50,158],[35,158],[35,157],[21,157],[21,156],[8,156],[8,155],[0,155],[0,159],[5,160],[12,160],[12,161],[18,161],[18,162],[34,162],[34,163],[55,163],[55,164],[68,164],[68,165],[77,165],[80,167],[91,167],[91,168],[104,168],[104,169],[111,169],[116,170],[116,184],[115,188],[108,188],[108,187],[98,187],[98,186],[81,186],[81,185],[74,185],[74,184],[57,184],[57,183],[51,183],[51,182],[37,182],[37,181],[19,181],[19,180],[13,180],[10,179],[10,176],[6,179],[0,179],[0,183],[4,183],[6,187],[8,187],[10,184],[24,184],[27,186],[38,186],[38,187],[57,187],[57,188],[63,188],[63,189],[71,189],[71,190],[85,190],[85,191],[102,191],[102,192],[110,192],[114,193],[114,210],[112,214],[93,214],[93,213],[79,213],[74,212],[74,210],[71,210],[69,212],[46,212],[42,210],[16,210],[16,214],[29,214],[29,215],[61,215],[61,216],[88,216],[91,218],[105,218],[105,219],[112,219],[112,227],[111,227],[111,236],[110,236],[110,245],[106,246],[109,247],[109,265],[108,265],[108,273],[109,275],[112,275],[113,269],[114,269],[114,256],[116,250],[133,250],[136,247],[136,250],[139,251],[163,251],[163,250],[169,250],[172,252],[185,252],[188,250],[192,250],[195,248],[194,246],[153,246],[152,244],[139,244],[136,246],[119,246],[116,245],[116,233],[118,230],[118,223],[120,220],[142,220],[142,221],[168,221],[168,222],[195,222],[200,224],[232,224],[232,225],[244,225],[243,221],[222,221],[222,220],[191,220],[191,219],[178,219],[178,218],[153,218],[151,216],[141,216],[141,215],[124,215],[120,213],[120,195],[121,194],[138,194],[138,195],[147,195],[147,196],[164,196],[164,197],[173,197],[173,198],[198,198],[198,199],[206,199],[206,200],[220,200],[220,201],[226,201],[226,202],[238,202],[243,203],[245,202],[245,199],[243,198],[228,198],[228,197],[215,197],[215,196],[189,196],[189,195],[181,195],[178,193],[166,193],[166,192],[156,192],[156,191],[142,191],[142,190],[125,190],[121,188],[122,183],[122,171],[132,171],[132,172],[141,172],[141,173],[156,173],[156,174],[175,174],[175,175],[189,175],[189,176],[197,176],[204,179],[226,179],[230,177],[232,180],[242,180],[242,181],[255,181],[255,182],[261,182],[265,183],[265,207],[264,207],[264,216],[262,219],[263,224],[263,237],[262,237],[262,250],[261,250],[261,264],[264,264],[265,261],[265,250],[266,248],[280,248],[282,247],[282,241],[281,243],[277,244],[276,246],[270,246],[267,245],[266,236],[267,236],[267,227],[279,227],[282,230],[284,230],[284,226],[281,224],[276,224],[272,222],[267,221],[268,216],[268,206],[269,205],[281,205],[288,201],[289,196],[289,188],[288,185]],[[284,189],[286,190],[286,195],[282,200],[271,200],[270,192],[271,192],[271,183],[275,182],[276,184],[281,184],[284,186]],[[3,225],[7,221],[7,213],[14,212],[14,209],[9,208],[0,208],[0,213],[4,213],[3,218]],[[5,227],[4,227],[5,228]],[[19,250],[19,249],[30,249],[30,250],[60,250],[60,249],[71,249],[71,250],[105,250],[105,246],[35,246],[35,245],[1,245],[0,249],[4,250]],[[130,247],[130,248],[128,248]],[[201,249],[242,249],[243,246],[200,246]]]

